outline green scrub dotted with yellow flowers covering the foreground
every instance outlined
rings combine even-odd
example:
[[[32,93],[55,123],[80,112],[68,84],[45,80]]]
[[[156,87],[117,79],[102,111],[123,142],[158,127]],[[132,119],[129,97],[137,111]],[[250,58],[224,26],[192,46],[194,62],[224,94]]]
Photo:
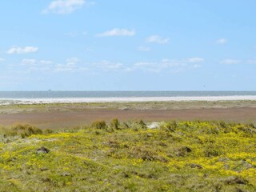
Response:
[[[147,125],[1,128],[0,191],[256,191],[253,124]]]

